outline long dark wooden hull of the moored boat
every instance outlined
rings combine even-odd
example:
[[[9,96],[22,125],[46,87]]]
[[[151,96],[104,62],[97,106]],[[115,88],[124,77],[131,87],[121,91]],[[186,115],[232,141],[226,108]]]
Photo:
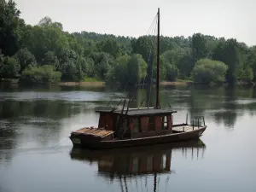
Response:
[[[125,147],[136,147],[143,145],[152,145],[159,143],[175,143],[186,140],[198,139],[202,133],[207,129],[207,126],[202,126],[194,131],[177,132],[172,134],[154,136],[154,137],[143,137],[133,139],[119,139],[119,140],[107,140],[107,141],[91,141],[83,139],[78,135],[71,135],[70,139],[74,147],[79,148],[125,148]]]

